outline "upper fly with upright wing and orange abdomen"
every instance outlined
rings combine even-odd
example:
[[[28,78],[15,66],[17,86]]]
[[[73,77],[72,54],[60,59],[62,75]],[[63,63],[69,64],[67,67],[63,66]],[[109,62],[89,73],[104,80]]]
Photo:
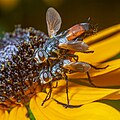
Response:
[[[46,23],[49,38],[43,47],[35,52],[35,59],[38,63],[43,63],[48,59],[57,59],[61,52],[65,50],[73,52],[93,53],[89,51],[89,46],[79,37],[83,34],[91,35],[95,33],[95,28],[90,23],[80,23],[69,28],[65,32],[57,35],[61,28],[62,19],[59,13],[52,7],[46,12]]]

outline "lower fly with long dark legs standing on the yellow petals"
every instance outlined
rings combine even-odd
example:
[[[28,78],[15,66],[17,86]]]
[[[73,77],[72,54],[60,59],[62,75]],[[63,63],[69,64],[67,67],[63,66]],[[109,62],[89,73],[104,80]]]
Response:
[[[75,72],[81,72],[81,73],[86,73],[88,76],[88,81],[89,83],[94,86],[97,87],[91,80],[90,75],[89,75],[89,71],[91,68],[94,69],[105,69],[108,66],[105,66],[103,68],[97,68],[89,63],[86,62],[71,62],[69,59],[60,59],[58,61],[53,62],[52,67],[45,72],[45,70],[41,71],[41,81],[43,84],[49,83],[50,85],[50,89],[49,92],[47,93],[46,98],[43,100],[41,105],[44,105],[44,103],[49,100],[49,98],[51,97],[51,92],[52,92],[52,82],[56,82],[60,79],[64,79],[66,81],[66,96],[67,96],[67,104],[64,105],[65,107],[69,107],[69,95],[68,95],[68,76],[66,74],[72,74]],[[43,79],[44,76],[44,79]],[[46,76],[46,77],[45,77]],[[48,82],[46,82],[46,79],[49,80]],[[56,100],[57,101],[57,100]]]

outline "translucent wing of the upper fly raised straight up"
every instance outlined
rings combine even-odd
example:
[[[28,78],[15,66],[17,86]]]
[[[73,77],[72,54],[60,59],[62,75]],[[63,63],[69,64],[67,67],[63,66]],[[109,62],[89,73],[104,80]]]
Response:
[[[61,27],[62,20],[59,13],[52,7],[50,7],[46,12],[46,22],[48,35],[50,37],[55,36]]]

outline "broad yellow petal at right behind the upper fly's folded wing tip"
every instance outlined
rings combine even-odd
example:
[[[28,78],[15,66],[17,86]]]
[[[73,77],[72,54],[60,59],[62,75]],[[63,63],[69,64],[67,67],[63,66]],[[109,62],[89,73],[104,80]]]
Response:
[[[91,64],[103,62],[120,53],[119,38],[120,33],[117,33],[109,38],[91,45],[90,50],[93,50],[94,53],[76,53],[76,55],[79,56],[79,61],[84,61]]]

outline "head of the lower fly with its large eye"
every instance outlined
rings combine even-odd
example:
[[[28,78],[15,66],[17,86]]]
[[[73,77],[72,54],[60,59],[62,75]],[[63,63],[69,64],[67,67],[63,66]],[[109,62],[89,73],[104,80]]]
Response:
[[[47,70],[42,70],[39,74],[40,82],[46,84],[52,80],[51,73]]]

